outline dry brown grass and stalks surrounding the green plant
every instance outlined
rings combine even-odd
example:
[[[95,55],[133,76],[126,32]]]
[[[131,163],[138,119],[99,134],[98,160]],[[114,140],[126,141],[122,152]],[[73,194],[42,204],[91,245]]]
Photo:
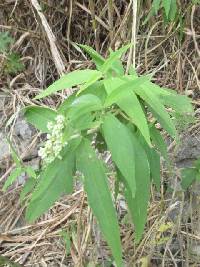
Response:
[[[184,39],[180,41],[178,23],[164,25],[161,14],[142,25],[149,11],[149,1],[146,1],[146,6],[138,5],[137,19],[134,1],[41,0],[42,16],[39,7],[37,10],[34,7],[34,4],[37,6],[36,2],[0,1],[0,30],[12,34],[15,43],[11,49],[21,55],[26,66],[23,73],[15,76],[2,75],[1,72],[0,97],[4,99],[0,110],[1,127],[13,114],[17,115],[21,107],[40,104],[33,100],[33,96],[63,71],[91,67],[90,60],[78,50],[76,43],[91,45],[106,55],[109,46],[117,48],[136,40],[133,50],[124,57],[124,63],[128,62],[127,68],[133,63],[141,74],[155,73],[157,83],[191,96],[199,108],[198,6],[191,8],[187,1],[181,1],[185,27]],[[55,107],[66,94],[59,93],[43,100],[43,103]],[[12,127],[9,129],[11,133]],[[2,167],[2,177],[5,178],[11,169],[8,159]],[[170,175],[163,172],[165,179]],[[173,176],[177,177],[176,172]],[[57,202],[34,225],[27,225],[23,219],[24,206],[19,203],[19,190],[17,187],[7,193],[0,191],[1,255],[23,266],[86,266],[86,262],[101,262],[110,257],[81,189]],[[147,228],[138,246],[133,243],[132,226],[126,219],[123,201],[118,203],[128,266],[189,266],[192,262],[189,253],[186,253],[187,244],[192,239],[198,241],[200,238],[192,232],[191,222],[182,220],[184,195],[177,197],[175,192],[167,195],[164,191],[164,185],[161,194],[152,189]],[[160,226],[171,222],[170,214],[177,207],[177,221],[166,231],[160,231]],[[71,234],[69,255],[66,255],[61,229]]]

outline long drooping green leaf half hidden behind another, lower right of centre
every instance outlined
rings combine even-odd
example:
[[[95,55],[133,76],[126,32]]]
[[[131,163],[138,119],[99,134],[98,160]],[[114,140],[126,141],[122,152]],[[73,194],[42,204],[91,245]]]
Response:
[[[147,207],[150,197],[150,169],[148,158],[143,147],[132,133],[130,133],[130,135],[132,137],[132,147],[135,151],[135,178],[137,190],[135,197],[132,197],[130,190],[126,188],[125,197],[135,225],[135,240],[138,243],[142,237],[147,220]]]

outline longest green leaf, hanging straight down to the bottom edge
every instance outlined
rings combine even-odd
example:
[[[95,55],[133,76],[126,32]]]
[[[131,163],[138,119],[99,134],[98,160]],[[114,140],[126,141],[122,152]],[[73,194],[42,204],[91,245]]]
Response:
[[[77,169],[84,175],[88,202],[97,218],[118,267],[122,266],[122,249],[116,212],[102,162],[89,140],[84,139],[77,151]]]

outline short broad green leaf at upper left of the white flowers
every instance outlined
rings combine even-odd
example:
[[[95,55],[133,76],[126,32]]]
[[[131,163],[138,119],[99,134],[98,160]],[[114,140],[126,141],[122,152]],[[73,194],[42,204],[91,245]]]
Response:
[[[57,112],[46,107],[30,106],[24,109],[26,120],[38,130],[48,133],[47,123],[55,120]]]

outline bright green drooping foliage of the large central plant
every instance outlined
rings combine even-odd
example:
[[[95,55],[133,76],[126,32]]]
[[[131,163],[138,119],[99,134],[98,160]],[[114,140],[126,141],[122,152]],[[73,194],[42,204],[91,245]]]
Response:
[[[34,221],[62,194],[71,193],[73,176],[78,172],[116,265],[121,267],[120,231],[109,188],[109,166],[99,157],[99,144],[101,151],[111,153],[116,171],[115,196],[119,191],[124,194],[134,224],[135,240],[139,242],[147,218],[150,185],[155,184],[158,190],[160,187],[160,157],[168,161],[166,144],[156,123],[160,123],[172,138],[177,138],[174,114],[192,113],[193,110],[187,97],[160,88],[149,76],[138,77],[135,72],[124,74],[120,58],[129,45],[110,51],[107,59],[90,47],[81,47],[89,53],[97,70],[76,70],[63,75],[36,98],[69,87],[79,90],[74,90],[55,111],[38,106],[24,110],[30,123],[48,133],[48,142],[54,139],[51,129],[57,129],[58,116],[64,117],[64,122],[61,120],[63,127],[59,125],[62,141],[58,154],[49,164],[43,165],[36,184],[25,184],[28,190],[24,189],[23,195],[34,188],[26,218]],[[184,109],[180,103],[184,103]],[[51,144],[45,146],[44,162],[47,162],[45,155],[49,156],[48,147],[52,149]]]

